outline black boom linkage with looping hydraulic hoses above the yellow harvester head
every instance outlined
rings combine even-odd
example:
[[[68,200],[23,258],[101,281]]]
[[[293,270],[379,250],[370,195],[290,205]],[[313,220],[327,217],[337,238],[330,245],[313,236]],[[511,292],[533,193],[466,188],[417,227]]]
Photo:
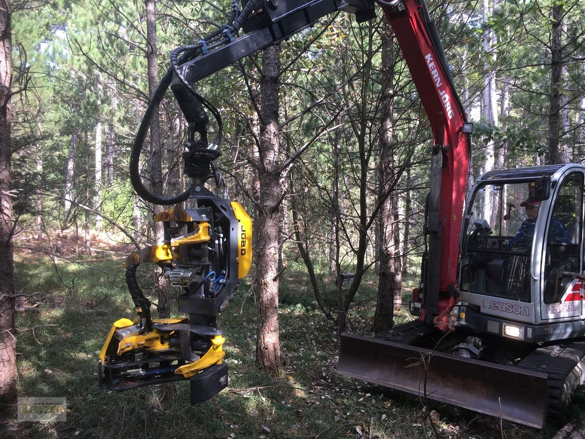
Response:
[[[144,138],[150,126],[150,119],[164,97],[168,87],[173,90],[181,111],[189,124],[187,147],[189,152],[184,155],[185,170],[195,169],[198,179],[209,174],[213,169],[213,160],[219,156],[219,145],[222,140],[222,121],[218,109],[207,99],[194,90],[192,84],[216,71],[235,63],[258,50],[271,44],[279,43],[292,35],[313,25],[322,17],[332,12],[344,10],[355,13],[358,21],[371,19],[374,16],[374,2],[368,0],[250,0],[238,14],[238,0],[233,0],[232,16],[228,23],[219,27],[205,39],[195,44],[180,46],[171,54],[171,66],[167,68],[159,87],[144,113],[140,128],[130,156],[130,181],[136,193],[146,201],[160,205],[182,203],[194,196],[194,188],[201,187],[201,181],[177,196],[156,196],[144,186],[139,174],[139,159]],[[238,36],[240,29],[247,32]],[[216,138],[209,143],[207,109],[218,123]],[[199,133],[199,140],[194,134]]]

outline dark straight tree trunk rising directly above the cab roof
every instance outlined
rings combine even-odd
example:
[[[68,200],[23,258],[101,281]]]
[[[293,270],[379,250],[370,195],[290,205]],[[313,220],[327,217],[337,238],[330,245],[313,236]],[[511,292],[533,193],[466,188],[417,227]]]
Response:
[[[550,28],[550,112],[549,112],[549,144],[548,163],[560,163],[560,83],[563,71],[563,5],[553,3],[552,25]]]

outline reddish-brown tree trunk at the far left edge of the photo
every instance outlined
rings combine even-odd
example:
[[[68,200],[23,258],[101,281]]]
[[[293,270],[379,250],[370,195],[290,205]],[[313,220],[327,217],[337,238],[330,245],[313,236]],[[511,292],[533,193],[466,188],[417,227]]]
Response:
[[[0,8],[0,411],[16,403],[16,331],[11,199],[12,5]]]

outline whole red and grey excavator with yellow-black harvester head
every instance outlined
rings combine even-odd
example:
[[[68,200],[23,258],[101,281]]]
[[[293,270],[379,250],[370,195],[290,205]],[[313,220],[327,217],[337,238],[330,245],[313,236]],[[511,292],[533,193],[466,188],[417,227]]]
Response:
[[[409,301],[415,319],[374,337],[341,334],[338,373],[536,428],[583,383],[585,166],[494,170],[467,190],[473,124],[424,0],[249,0],[241,9],[233,0],[227,23],[171,53],[136,134],[130,180],[137,195],[173,207],[153,218],[163,223],[163,242],[124,263],[136,317],[112,325],[98,358],[99,386],[122,391],[188,379],[195,404],[228,385],[218,318],[250,269],[252,220],[228,198],[215,163],[221,114],[194,83],[326,15],[373,19],[376,5],[432,130],[425,251]],[[144,186],[139,162],[169,87],[188,125],[183,162],[191,184],[164,197]],[[147,263],[180,289],[178,310],[188,317],[152,318],[137,280]]]

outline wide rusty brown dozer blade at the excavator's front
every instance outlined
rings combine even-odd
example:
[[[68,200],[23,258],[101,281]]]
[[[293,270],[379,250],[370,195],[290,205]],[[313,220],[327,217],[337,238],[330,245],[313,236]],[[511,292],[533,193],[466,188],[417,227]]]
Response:
[[[542,428],[546,419],[546,373],[347,332],[337,371],[526,426]]]

